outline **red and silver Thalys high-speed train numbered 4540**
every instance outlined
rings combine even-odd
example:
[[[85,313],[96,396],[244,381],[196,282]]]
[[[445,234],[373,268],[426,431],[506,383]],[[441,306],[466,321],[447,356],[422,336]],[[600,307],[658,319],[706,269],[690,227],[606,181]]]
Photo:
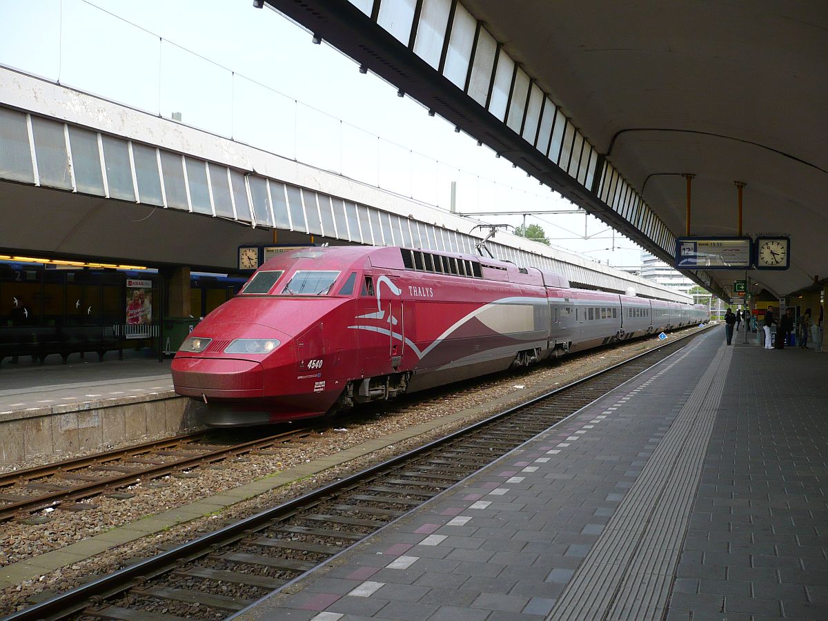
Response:
[[[310,248],[266,262],[172,361],[210,426],[321,416],[708,319],[468,254]]]

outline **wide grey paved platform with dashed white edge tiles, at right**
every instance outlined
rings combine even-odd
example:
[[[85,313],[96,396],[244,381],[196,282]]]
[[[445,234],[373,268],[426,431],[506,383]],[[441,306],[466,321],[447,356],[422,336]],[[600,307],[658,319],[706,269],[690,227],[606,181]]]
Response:
[[[828,357],[743,339],[710,330],[233,619],[828,619]]]

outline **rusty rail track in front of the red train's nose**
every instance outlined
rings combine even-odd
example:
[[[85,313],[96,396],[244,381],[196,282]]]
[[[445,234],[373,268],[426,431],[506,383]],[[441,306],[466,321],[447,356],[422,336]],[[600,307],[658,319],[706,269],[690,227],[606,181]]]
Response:
[[[100,493],[118,493],[118,489],[140,481],[185,473],[235,455],[301,442],[310,435],[310,429],[296,428],[232,445],[205,443],[210,433],[198,431],[2,474],[0,522],[25,519],[44,508],[83,510],[90,505],[77,501]]]

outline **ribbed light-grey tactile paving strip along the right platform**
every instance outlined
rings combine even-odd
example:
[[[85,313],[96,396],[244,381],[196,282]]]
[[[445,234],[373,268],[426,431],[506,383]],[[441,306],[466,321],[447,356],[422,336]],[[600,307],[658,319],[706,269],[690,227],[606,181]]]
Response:
[[[662,619],[731,358],[719,349],[546,619]]]

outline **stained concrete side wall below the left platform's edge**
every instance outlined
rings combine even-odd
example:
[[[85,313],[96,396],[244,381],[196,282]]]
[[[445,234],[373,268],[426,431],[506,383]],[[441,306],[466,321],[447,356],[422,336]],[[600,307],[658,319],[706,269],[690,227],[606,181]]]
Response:
[[[43,407],[0,416],[0,465],[42,455],[103,450],[130,440],[201,427],[198,404],[175,392],[80,405]]]

